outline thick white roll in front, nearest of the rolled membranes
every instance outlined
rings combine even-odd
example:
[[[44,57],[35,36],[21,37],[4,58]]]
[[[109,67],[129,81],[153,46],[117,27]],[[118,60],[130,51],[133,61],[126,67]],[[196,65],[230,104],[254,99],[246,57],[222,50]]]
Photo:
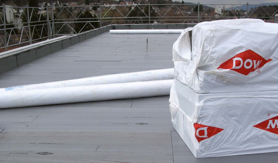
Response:
[[[172,83],[173,80],[155,80],[22,91],[2,91],[0,93],[0,108],[169,95]]]

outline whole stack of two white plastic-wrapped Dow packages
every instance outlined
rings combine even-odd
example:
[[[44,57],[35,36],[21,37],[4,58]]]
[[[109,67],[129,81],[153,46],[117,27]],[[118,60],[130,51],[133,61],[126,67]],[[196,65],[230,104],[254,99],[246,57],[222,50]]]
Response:
[[[203,22],[181,33],[170,111],[196,158],[278,152],[277,49],[278,24],[258,19]]]

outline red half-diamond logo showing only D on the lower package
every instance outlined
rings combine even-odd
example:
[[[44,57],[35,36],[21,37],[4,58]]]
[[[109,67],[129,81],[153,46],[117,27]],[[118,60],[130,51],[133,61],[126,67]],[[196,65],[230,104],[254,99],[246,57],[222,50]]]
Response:
[[[198,142],[208,139],[224,130],[222,128],[211,127],[199,123],[195,123],[194,128],[195,128],[195,137],[198,140]]]

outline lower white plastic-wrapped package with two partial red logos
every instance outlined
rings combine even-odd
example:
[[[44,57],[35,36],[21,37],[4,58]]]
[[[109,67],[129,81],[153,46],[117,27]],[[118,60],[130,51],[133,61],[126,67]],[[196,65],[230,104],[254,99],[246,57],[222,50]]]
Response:
[[[196,93],[174,80],[172,123],[196,158],[278,152],[278,91]]]

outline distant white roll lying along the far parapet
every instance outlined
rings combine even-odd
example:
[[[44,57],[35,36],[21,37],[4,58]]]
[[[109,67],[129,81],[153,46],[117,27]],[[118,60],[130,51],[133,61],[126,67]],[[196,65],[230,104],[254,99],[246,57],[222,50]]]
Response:
[[[110,30],[110,34],[181,34],[183,29],[121,29]]]

